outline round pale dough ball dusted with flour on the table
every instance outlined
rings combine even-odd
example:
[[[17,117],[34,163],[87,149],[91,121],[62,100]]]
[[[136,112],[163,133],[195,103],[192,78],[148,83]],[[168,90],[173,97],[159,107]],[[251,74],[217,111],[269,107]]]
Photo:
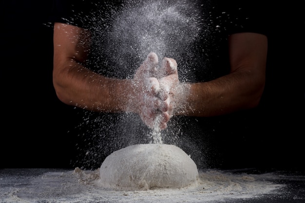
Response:
[[[181,188],[198,180],[194,161],[181,148],[139,144],[110,154],[100,167],[101,183],[113,189]]]

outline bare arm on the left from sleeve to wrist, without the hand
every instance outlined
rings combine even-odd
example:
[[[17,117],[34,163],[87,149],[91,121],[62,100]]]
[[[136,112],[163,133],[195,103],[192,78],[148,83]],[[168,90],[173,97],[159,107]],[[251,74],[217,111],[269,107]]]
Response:
[[[65,104],[92,111],[130,109],[132,81],[106,78],[85,67],[89,33],[76,26],[55,23],[53,83]]]

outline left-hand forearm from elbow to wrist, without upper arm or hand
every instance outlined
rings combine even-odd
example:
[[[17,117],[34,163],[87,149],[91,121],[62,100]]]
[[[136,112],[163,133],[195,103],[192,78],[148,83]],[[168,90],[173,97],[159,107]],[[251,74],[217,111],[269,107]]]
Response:
[[[134,97],[131,80],[106,78],[73,60],[65,66],[67,68],[60,69],[60,73],[53,74],[57,97],[63,103],[92,111],[133,110],[130,107]]]

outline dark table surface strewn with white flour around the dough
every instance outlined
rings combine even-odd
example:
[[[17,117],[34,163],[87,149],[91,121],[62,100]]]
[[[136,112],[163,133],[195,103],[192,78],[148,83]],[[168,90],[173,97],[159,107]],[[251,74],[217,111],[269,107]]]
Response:
[[[0,169],[0,203],[305,203],[305,173],[256,169],[199,171],[186,188],[117,191],[99,170]]]

